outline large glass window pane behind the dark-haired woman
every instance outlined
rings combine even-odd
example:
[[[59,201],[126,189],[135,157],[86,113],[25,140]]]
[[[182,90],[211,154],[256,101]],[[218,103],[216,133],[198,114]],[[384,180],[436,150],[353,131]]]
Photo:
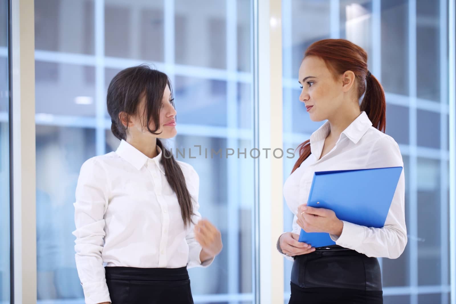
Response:
[[[170,3],[36,3],[38,303],[83,303],[71,234],[78,174],[88,158],[117,149],[107,88],[143,62],[171,78],[178,135],[165,144],[186,149],[177,159],[197,170],[202,216],[222,232],[211,267],[189,270],[195,302],[254,302],[254,160],[237,157],[253,148],[253,1]],[[235,155],[211,158],[211,149]]]

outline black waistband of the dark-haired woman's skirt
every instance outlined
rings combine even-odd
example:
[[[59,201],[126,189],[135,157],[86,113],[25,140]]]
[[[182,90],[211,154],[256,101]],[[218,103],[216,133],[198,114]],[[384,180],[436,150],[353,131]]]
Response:
[[[107,279],[140,281],[179,281],[188,279],[187,267],[181,268],[136,268],[105,267]]]

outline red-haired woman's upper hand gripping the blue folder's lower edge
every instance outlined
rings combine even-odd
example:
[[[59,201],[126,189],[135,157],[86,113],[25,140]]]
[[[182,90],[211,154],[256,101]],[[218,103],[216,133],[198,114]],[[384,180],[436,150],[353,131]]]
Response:
[[[305,232],[326,232],[337,237],[342,234],[343,222],[334,211],[325,208],[314,208],[306,204],[298,207],[298,225]]]

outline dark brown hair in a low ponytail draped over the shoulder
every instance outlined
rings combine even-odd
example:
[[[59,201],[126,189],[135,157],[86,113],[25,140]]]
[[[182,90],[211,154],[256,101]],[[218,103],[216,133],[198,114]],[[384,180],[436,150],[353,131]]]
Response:
[[[166,85],[169,86],[172,97],[171,82],[168,76],[147,65],[128,67],[114,76],[109,83],[106,101],[108,113],[111,116],[111,131],[116,138],[125,140],[128,129],[128,122],[127,126],[120,122],[119,113],[125,112],[127,117],[135,115],[139,109],[140,99],[143,96],[145,97],[144,113],[138,114],[142,114],[146,118],[145,126],[150,133],[160,134],[156,132],[160,129],[160,107]],[[174,107],[172,100],[171,104]],[[154,122],[155,130],[150,129],[150,120]],[[166,180],[176,193],[177,201],[179,201],[179,206],[181,206],[182,220],[184,225],[187,226],[187,224],[192,222],[193,205],[185,183],[185,177],[171,152],[166,149],[158,138],[157,146],[161,149],[161,164],[165,169]]]

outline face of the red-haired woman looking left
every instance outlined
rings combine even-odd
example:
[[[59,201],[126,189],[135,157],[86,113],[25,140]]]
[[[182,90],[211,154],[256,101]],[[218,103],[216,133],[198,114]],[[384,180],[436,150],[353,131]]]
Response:
[[[329,119],[342,105],[344,90],[342,77],[334,79],[333,73],[320,57],[307,56],[299,68],[301,95],[313,121]]]

